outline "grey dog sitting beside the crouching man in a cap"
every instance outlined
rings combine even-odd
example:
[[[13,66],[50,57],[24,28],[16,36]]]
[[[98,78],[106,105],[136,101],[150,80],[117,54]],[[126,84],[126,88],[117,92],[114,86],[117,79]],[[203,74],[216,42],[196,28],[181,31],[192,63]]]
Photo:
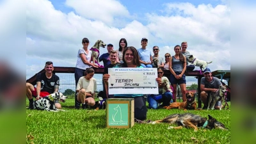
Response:
[[[220,85],[220,87],[216,92],[211,92],[209,95],[207,110],[209,110],[210,108],[213,110],[218,100],[220,100],[222,104],[224,101],[225,95],[227,95],[227,87],[223,85]],[[221,110],[221,107],[222,106],[220,106],[220,110]]]

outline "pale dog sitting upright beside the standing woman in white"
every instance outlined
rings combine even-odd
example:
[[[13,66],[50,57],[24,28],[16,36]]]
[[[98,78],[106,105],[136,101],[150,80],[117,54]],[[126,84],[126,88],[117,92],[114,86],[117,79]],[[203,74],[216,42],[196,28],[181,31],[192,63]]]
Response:
[[[90,49],[90,51],[92,51],[93,64],[97,63],[97,65],[99,65],[100,68],[104,68],[104,66],[100,65],[99,63],[100,47],[104,48],[105,46],[106,44],[102,40],[97,40],[97,42],[95,42],[93,47]]]

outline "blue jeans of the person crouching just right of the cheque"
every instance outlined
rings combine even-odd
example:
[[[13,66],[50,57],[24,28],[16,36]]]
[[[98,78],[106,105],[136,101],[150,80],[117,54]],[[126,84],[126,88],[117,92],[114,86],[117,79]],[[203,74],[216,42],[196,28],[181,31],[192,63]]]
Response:
[[[152,109],[157,109],[157,106],[159,103],[163,102],[163,106],[169,106],[170,101],[172,100],[172,93],[171,92],[165,92],[164,94],[159,94],[162,95],[162,99],[156,100],[154,99],[154,95],[148,95],[147,100],[148,100],[148,107]]]

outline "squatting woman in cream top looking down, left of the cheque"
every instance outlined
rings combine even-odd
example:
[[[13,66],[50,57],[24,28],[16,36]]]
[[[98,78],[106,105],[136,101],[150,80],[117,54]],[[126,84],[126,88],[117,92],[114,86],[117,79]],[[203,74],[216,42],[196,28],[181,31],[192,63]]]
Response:
[[[93,78],[93,68],[87,68],[84,72],[84,76],[79,78],[76,86],[77,101],[82,103],[82,108],[86,109],[86,105],[95,105],[95,92],[97,90],[96,79]]]

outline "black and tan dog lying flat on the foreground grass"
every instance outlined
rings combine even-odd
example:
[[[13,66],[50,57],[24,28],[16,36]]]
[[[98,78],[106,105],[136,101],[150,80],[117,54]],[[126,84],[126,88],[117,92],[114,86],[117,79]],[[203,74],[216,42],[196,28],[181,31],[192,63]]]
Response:
[[[169,124],[177,124],[178,127],[168,127],[168,129],[182,129],[182,127],[192,128],[194,131],[198,131],[198,127],[206,128],[206,129],[223,129],[228,130],[224,124],[218,122],[211,115],[209,116],[209,120],[207,118],[202,117],[200,115],[194,115],[192,113],[177,113],[173,115],[169,115],[163,120],[156,120],[154,122],[150,122],[151,124],[159,124],[159,123],[169,123]]]

